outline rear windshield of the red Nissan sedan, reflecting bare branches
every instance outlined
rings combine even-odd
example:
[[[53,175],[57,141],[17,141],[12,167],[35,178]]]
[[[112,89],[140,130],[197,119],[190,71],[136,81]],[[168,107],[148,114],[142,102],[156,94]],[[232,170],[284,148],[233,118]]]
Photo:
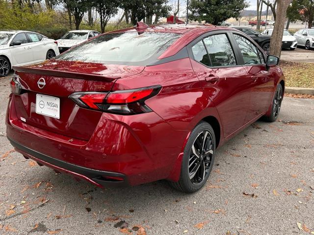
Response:
[[[161,32],[103,34],[61,54],[56,60],[146,66],[180,36]]]

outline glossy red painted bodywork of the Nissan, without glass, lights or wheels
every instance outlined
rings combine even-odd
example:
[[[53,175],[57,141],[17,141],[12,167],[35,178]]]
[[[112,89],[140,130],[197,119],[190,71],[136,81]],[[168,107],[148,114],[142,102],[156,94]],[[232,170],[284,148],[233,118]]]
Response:
[[[143,29],[183,34],[158,60],[177,55],[204,33],[223,30],[238,32],[195,25]],[[136,29],[110,33],[133,31]],[[277,84],[284,85],[279,67],[269,71],[265,65],[212,69],[190,57],[153,66],[50,60],[15,70],[25,91],[10,94],[6,115],[7,137],[16,150],[99,187],[133,186],[160,179],[178,181],[183,148],[198,122],[207,120],[213,125],[220,146],[269,114]],[[41,77],[46,81],[43,89],[37,85]],[[75,92],[116,92],[156,85],[161,90],[145,101],[153,112],[136,115],[82,108],[69,98]],[[60,98],[60,119],[35,112],[38,93]],[[48,156],[51,162],[38,158],[38,154]],[[65,167],[53,164],[55,161],[66,163]],[[93,177],[82,173],[90,170]],[[97,172],[103,178],[94,177]]]

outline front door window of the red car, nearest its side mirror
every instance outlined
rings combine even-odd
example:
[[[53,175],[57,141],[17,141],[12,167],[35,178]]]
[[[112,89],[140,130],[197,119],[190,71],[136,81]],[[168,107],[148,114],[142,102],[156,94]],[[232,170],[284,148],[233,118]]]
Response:
[[[262,64],[259,50],[246,38],[234,34],[235,41],[237,42],[238,46],[240,47],[241,54],[243,56],[244,64],[245,65],[258,65]]]

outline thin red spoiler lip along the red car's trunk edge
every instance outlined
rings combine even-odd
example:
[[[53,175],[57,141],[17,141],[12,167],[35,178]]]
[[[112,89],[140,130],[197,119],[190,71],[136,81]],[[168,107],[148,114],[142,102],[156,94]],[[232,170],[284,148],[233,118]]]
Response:
[[[40,75],[76,78],[76,79],[83,79],[83,80],[106,81],[106,82],[112,82],[118,78],[121,78],[121,76],[108,77],[108,76],[104,76],[101,74],[79,73],[79,72],[72,72],[72,71],[47,70],[47,69],[31,68],[31,67],[26,67],[26,66],[13,66],[13,70],[16,72],[26,72],[26,73],[33,73],[33,74],[40,74]]]

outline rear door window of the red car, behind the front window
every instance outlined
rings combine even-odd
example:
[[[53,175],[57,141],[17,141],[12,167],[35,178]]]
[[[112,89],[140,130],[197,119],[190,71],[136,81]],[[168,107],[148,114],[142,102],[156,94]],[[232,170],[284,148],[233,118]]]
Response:
[[[236,65],[235,54],[226,34],[204,38],[204,44],[213,67]]]

